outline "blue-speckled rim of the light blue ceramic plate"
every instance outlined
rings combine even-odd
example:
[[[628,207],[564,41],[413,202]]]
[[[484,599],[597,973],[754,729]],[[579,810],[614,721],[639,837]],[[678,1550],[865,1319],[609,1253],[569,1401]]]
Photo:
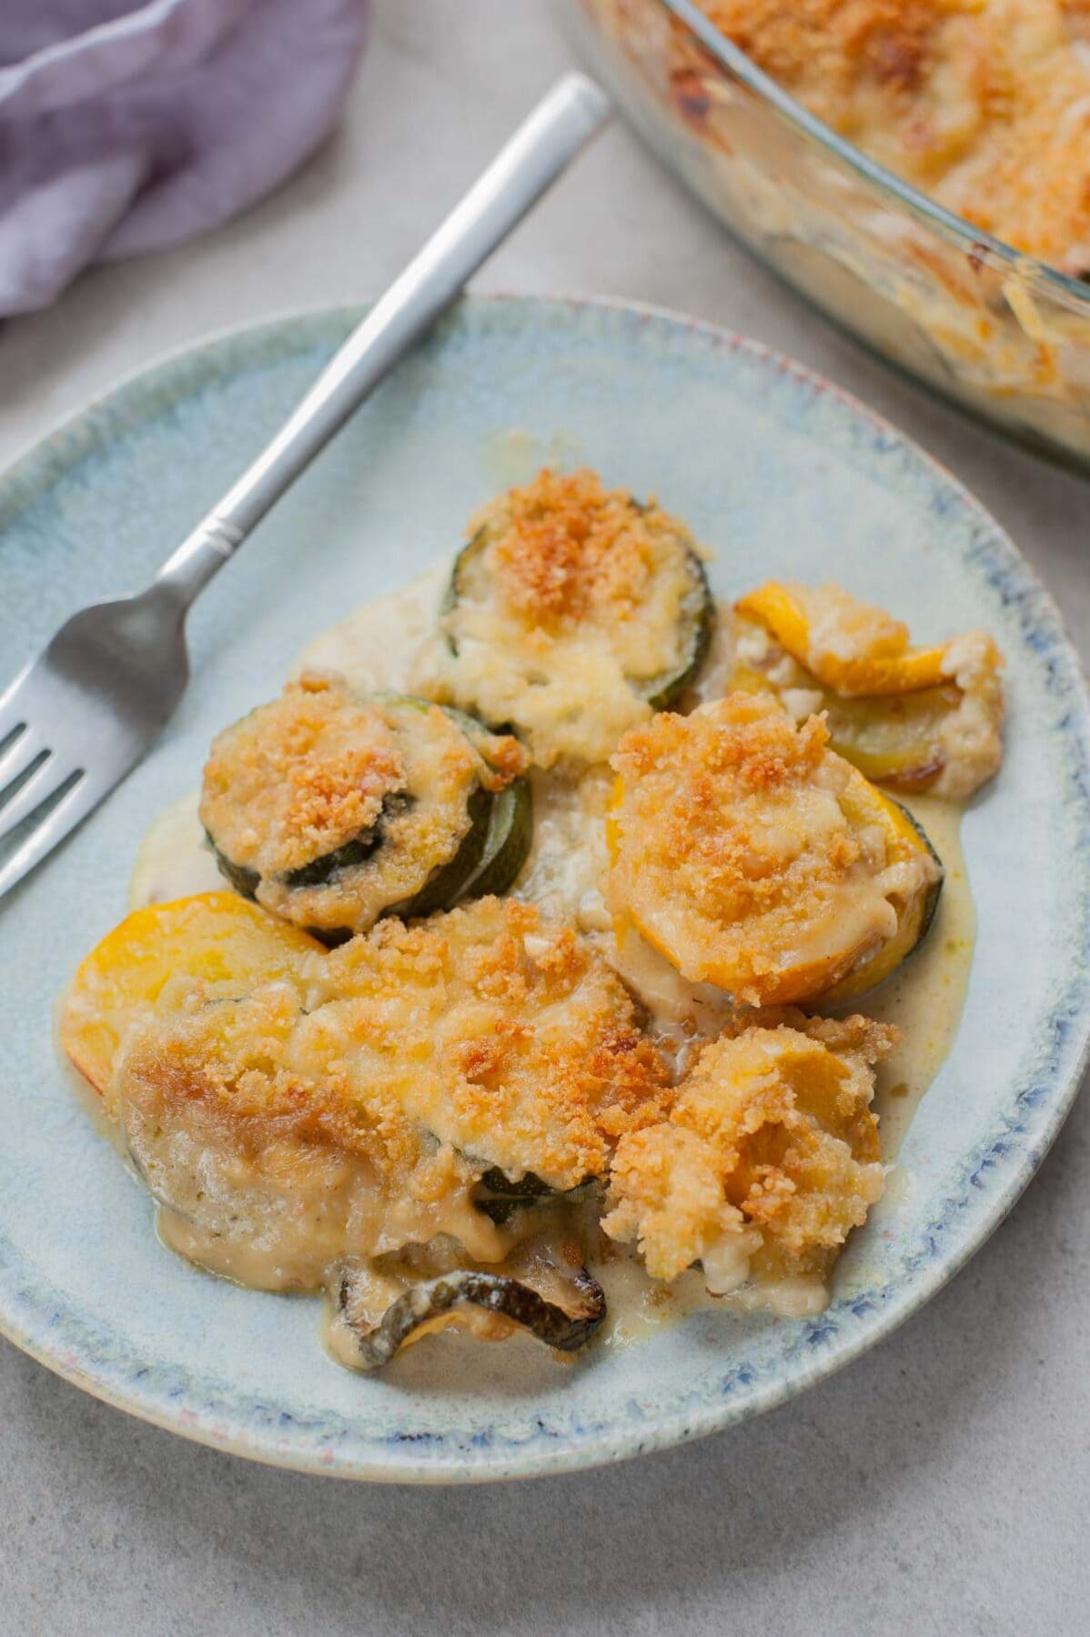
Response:
[[[971,519],[974,542],[969,555],[1002,601],[1015,607],[1023,642],[1044,666],[1049,691],[1062,706],[1056,732],[1064,737],[1070,751],[1065,758],[1065,799],[1077,820],[1075,853],[1090,864],[1090,692],[1079,655],[1064,632],[1056,602],[1015,543],[939,462],[851,393],[805,365],[761,342],[686,314],[609,298],[489,295],[470,296],[466,301],[478,308],[511,303],[530,311],[558,309],[573,322],[579,314],[589,318],[596,311],[604,316],[630,316],[638,326],[674,332],[686,344],[712,354],[746,354],[758,367],[787,378],[800,393],[833,401],[872,447],[882,453],[897,452],[917,478],[944,491],[949,504]],[[349,306],[316,308],[242,329],[224,329],[134,372],[82,411],[62,419],[51,434],[0,471],[0,529],[44,493],[75,458],[101,447],[108,431],[137,422],[164,396],[193,390],[218,373],[224,345],[232,347],[237,362],[278,349],[291,352],[298,350],[300,340],[314,344],[339,339],[360,313],[362,309]],[[187,1393],[169,1375],[154,1380],[155,1372],[133,1369],[126,1373],[118,1367],[105,1370],[88,1365],[80,1346],[85,1339],[79,1334],[65,1339],[61,1315],[51,1311],[51,1303],[43,1301],[41,1292],[34,1292],[29,1282],[16,1285],[15,1295],[3,1295],[0,1334],[103,1403],[195,1442],[267,1465],[370,1481],[466,1483],[586,1470],[668,1449],[761,1414],[851,1364],[917,1313],[998,1228],[1036,1174],[1090,1064],[1088,874],[1090,871],[1074,873],[1080,889],[1083,959],[1072,963],[1067,984],[1056,995],[1051,1010],[1038,1020],[1033,1071],[1011,1087],[1013,1097],[989,1139],[966,1154],[961,1188],[948,1195],[941,1211],[917,1236],[903,1259],[902,1280],[846,1305],[836,1311],[835,1319],[822,1316],[817,1323],[808,1323],[804,1341],[786,1349],[784,1370],[777,1377],[758,1382],[746,1364],[735,1365],[718,1383],[704,1383],[694,1391],[691,1408],[635,1416],[624,1427],[592,1424],[574,1434],[550,1434],[542,1421],[534,1442],[481,1445],[478,1441],[455,1442],[453,1436],[426,1441],[394,1434],[370,1444],[357,1439],[357,1445],[350,1447],[344,1441],[334,1442],[319,1419],[311,1426],[298,1416],[282,1416],[275,1405],[241,1401],[239,1396],[232,1400],[211,1382],[201,1382]],[[203,1408],[198,1411],[187,1400]]]

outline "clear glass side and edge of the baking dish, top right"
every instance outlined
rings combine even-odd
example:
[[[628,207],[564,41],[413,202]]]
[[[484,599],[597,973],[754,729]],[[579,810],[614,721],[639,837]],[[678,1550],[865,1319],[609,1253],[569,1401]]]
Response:
[[[1090,285],[845,142],[691,0],[566,0],[637,129],[732,232],[885,359],[1090,468]]]

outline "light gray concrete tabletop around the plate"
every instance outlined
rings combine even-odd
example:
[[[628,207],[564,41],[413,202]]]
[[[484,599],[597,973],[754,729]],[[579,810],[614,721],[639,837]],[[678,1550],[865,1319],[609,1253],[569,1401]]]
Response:
[[[538,0],[380,0],[337,139],[242,221],[0,331],[0,460],[155,355],[376,291],[566,49]],[[1090,488],[863,355],[610,131],[481,278],[758,336],[974,488],[1090,640]],[[723,452],[730,458],[730,450]],[[183,1444],[0,1344],[0,1632],[1090,1629],[1090,1102],[972,1265],[848,1373],[640,1463],[355,1488]]]

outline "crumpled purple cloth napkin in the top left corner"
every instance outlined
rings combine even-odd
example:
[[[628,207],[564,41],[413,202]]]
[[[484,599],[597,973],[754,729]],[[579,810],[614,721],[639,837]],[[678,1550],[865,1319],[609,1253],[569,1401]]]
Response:
[[[340,111],[368,0],[0,0],[0,318],[272,192]]]

